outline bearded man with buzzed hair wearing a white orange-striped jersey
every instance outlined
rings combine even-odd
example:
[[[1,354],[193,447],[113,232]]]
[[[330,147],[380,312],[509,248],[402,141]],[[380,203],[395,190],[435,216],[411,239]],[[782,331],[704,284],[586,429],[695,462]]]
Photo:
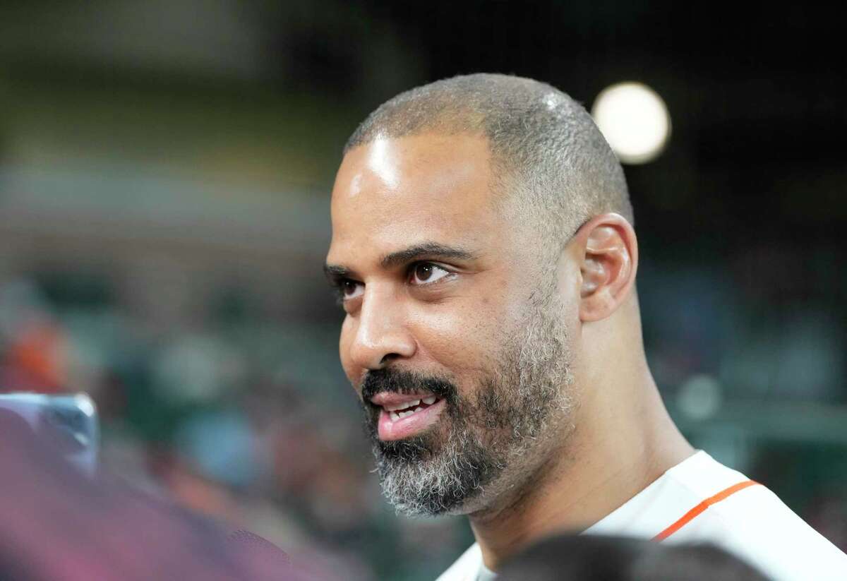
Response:
[[[562,529],[706,539],[775,578],[847,578],[847,556],[668,417],[632,224],[617,159],[551,86],[441,80],[358,127],[325,268],[385,496],[468,515],[477,543],[443,581],[492,578]]]

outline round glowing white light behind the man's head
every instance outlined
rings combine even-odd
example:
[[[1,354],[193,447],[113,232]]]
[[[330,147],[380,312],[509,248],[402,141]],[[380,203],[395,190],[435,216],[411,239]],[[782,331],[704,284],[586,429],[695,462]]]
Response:
[[[623,163],[655,159],[671,133],[671,116],[665,102],[641,83],[606,87],[595,99],[591,116]]]

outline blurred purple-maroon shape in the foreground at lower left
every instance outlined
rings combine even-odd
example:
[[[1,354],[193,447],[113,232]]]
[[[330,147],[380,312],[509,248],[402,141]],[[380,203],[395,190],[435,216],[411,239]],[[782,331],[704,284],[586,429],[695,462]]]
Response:
[[[293,581],[285,553],[108,479],[89,479],[0,410],[3,581]]]

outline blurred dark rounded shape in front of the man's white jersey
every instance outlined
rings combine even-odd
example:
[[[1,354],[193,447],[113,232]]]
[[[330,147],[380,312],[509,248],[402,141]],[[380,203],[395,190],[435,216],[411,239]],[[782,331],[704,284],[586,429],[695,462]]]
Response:
[[[558,536],[503,565],[498,581],[767,581],[714,545],[660,545],[641,539]]]

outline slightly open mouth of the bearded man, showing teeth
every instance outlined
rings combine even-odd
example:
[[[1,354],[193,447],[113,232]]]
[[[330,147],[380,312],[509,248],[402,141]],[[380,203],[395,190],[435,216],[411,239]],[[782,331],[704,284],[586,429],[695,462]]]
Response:
[[[438,421],[446,401],[426,394],[382,392],[371,398],[382,409],[377,423],[379,440],[402,440],[423,432]]]

